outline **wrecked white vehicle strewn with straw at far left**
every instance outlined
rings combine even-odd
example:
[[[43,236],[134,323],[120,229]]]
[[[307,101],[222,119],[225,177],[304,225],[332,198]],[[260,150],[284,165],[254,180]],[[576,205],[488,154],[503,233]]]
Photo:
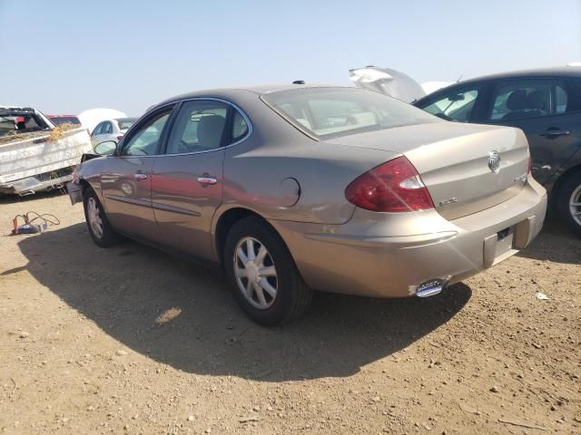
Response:
[[[0,107],[0,194],[62,188],[81,156],[91,152],[84,127],[55,127],[41,112]]]

